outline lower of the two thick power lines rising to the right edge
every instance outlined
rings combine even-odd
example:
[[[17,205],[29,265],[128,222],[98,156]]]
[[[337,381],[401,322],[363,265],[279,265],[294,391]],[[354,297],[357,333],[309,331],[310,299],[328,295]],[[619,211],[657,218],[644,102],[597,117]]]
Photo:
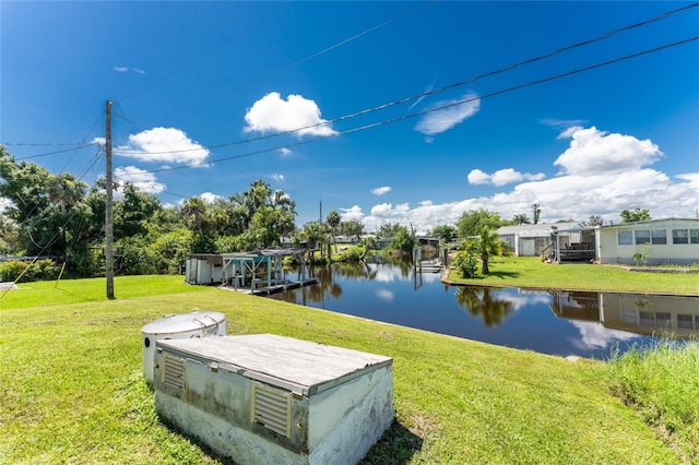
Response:
[[[273,152],[273,151],[281,150],[281,148],[288,148],[288,147],[293,147],[293,146],[305,145],[305,144],[309,144],[311,142],[323,141],[325,139],[335,138],[335,136],[343,135],[343,134],[351,134],[351,133],[354,133],[354,132],[365,131],[367,129],[378,128],[378,127],[390,124],[390,123],[394,123],[394,122],[398,122],[398,121],[403,121],[403,120],[416,118],[418,116],[423,116],[423,115],[427,115],[427,114],[430,114],[430,112],[439,111],[439,110],[442,110],[442,109],[446,109],[446,108],[451,108],[451,107],[464,105],[464,104],[467,104],[467,103],[471,103],[471,102],[475,102],[475,100],[478,100],[478,99],[495,97],[497,95],[507,94],[507,93],[510,93],[510,92],[513,92],[513,91],[519,91],[521,88],[531,87],[531,86],[543,84],[543,83],[546,83],[546,82],[559,80],[559,79],[567,78],[567,76],[570,76],[570,75],[573,75],[573,74],[580,74],[582,72],[591,71],[591,70],[594,70],[594,69],[597,69],[597,68],[602,68],[602,67],[606,67],[606,65],[609,65],[609,64],[618,63],[618,62],[621,62],[621,61],[630,60],[630,59],[638,58],[638,57],[641,57],[641,56],[644,56],[644,55],[649,55],[649,53],[653,53],[653,52],[656,52],[656,51],[665,50],[665,49],[668,49],[668,48],[672,48],[672,47],[677,47],[677,46],[680,46],[680,45],[684,45],[684,44],[688,44],[688,43],[697,40],[697,39],[699,39],[699,36],[689,37],[689,38],[686,38],[686,39],[683,39],[683,40],[678,40],[678,41],[675,41],[675,43],[672,43],[672,44],[662,45],[662,46],[654,47],[654,48],[651,48],[651,49],[647,49],[647,50],[643,50],[643,51],[639,51],[639,52],[636,52],[636,53],[631,53],[631,55],[627,55],[627,56],[624,56],[624,57],[615,58],[615,59],[612,59],[612,60],[603,61],[603,62],[600,62],[600,63],[591,64],[591,65],[588,65],[588,67],[584,67],[584,68],[579,68],[577,70],[567,71],[567,72],[564,72],[564,73],[560,73],[560,74],[556,74],[556,75],[553,75],[553,76],[548,76],[548,78],[544,78],[544,79],[540,79],[540,80],[535,80],[535,81],[530,81],[530,82],[524,83],[524,84],[519,84],[519,85],[516,85],[516,86],[512,86],[512,87],[508,87],[508,88],[503,88],[503,90],[500,90],[500,91],[491,92],[491,93],[488,93],[488,94],[485,94],[485,95],[482,95],[482,96],[470,97],[470,98],[465,98],[465,99],[462,99],[462,100],[457,100],[457,102],[453,102],[453,103],[450,103],[450,104],[447,104],[447,105],[442,105],[442,106],[439,106],[439,107],[429,108],[429,109],[426,109],[426,110],[413,112],[413,114],[410,114],[410,115],[403,115],[401,117],[396,117],[396,118],[392,118],[392,119],[388,119],[388,120],[383,120],[383,121],[379,121],[379,122],[374,122],[374,123],[360,126],[360,127],[348,129],[348,130],[345,130],[345,131],[339,131],[339,132],[336,132],[334,134],[331,134],[331,135],[321,135],[321,136],[318,136],[318,138],[315,138],[315,139],[306,140],[306,141],[292,142],[292,143],[279,145],[279,146],[275,146],[275,147],[262,148],[262,150],[259,150],[259,151],[247,152],[245,154],[234,155],[234,156],[229,156],[229,157],[217,158],[217,159],[212,159],[212,160],[208,160],[208,162],[194,163],[194,164],[176,166],[176,167],[154,169],[154,170],[149,170],[149,171],[143,171],[143,172],[145,174],[145,172],[174,171],[174,170],[178,170],[178,169],[193,168],[193,167],[199,167],[199,166],[204,166],[204,165],[213,165],[213,164],[221,163],[221,162],[228,162],[228,160],[232,160],[232,159],[245,158],[245,157],[249,157],[249,156],[253,156],[253,155],[260,155],[260,154],[263,154],[263,153]],[[234,144],[238,144],[238,143],[240,143],[240,142],[233,142],[233,143],[229,143],[229,144],[213,145],[213,146],[208,147],[208,148],[222,147],[222,146],[234,145]],[[201,148],[199,148],[199,150],[201,150]],[[162,152],[162,153],[179,153],[179,152],[188,152],[188,151],[174,151],[174,152]]]

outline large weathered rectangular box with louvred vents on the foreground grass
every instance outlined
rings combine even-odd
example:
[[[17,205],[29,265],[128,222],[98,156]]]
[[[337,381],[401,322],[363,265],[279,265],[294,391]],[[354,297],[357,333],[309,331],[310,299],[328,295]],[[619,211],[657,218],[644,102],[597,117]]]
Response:
[[[393,359],[273,334],[158,341],[162,416],[241,464],[354,464],[393,420]]]

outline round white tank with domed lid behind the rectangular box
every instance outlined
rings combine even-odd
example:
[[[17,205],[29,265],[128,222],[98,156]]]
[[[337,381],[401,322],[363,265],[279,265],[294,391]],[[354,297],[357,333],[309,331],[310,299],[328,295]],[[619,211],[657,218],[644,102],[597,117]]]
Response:
[[[143,378],[153,382],[153,359],[156,341],[225,335],[226,315],[217,311],[193,310],[189,313],[169,314],[146,324],[141,329]]]

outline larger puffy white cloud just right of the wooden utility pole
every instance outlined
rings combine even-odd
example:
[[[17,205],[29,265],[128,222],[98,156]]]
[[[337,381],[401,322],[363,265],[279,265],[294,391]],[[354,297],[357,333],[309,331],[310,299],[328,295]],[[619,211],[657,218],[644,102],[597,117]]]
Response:
[[[209,150],[176,128],[153,128],[129,135],[129,143],[114,148],[116,155],[152,163],[205,166]]]

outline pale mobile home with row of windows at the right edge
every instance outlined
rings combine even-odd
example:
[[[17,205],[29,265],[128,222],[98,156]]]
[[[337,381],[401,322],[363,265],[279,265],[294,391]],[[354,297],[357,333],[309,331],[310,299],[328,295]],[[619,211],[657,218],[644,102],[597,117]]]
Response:
[[[600,263],[699,264],[699,219],[652,219],[595,228]]]

